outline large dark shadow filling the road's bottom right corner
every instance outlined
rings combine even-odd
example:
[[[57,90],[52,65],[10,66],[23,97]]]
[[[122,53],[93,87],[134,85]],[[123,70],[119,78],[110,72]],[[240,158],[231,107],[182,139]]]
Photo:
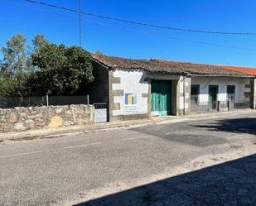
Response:
[[[251,206],[256,205],[255,194],[256,155],[253,155],[110,194],[76,206]]]

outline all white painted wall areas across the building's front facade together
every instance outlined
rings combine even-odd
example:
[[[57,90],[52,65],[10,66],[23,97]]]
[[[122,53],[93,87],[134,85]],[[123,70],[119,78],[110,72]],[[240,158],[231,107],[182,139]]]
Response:
[[[148,93],[148,84],[145,79],[147,73],[143,70],[118,69],[114,71],[114,77],[121,79],[120,84],[113,84],[113,90],[122,89],[123,96],[114,97],[114,103],[120,103],[120,110],[114,110],[113,116],[129,115],[129,114],[146,114],[147,113],[147,98],[142,98],[142,93]],[[179,109],[188,108],[189,105],[184,105],[183,83],[184,77],[179,76],[180,101]],[[189,82],[186,81],[186,87]],[[250,89],[245,88],[245,84],[249,84],[249,79],[246,78],[225,78],[225,77],[191,77],[191,84],[200,84],[200,103],[207,103],[209,100],[208,89],[209,85],[219,85],[219,93],[217,99],[219,101],[227,100],[227,85],[235,85],[235,103],[243,103],[249,101],[249,98],[244,98],[244,92],[249,92]],[[125,109],[125,93],[134,93],[137,97],[137,111],[127,112]],[[186,93],[186,99],[190,98],[190,93]],[[186,101],[187,102],[187,101]]]

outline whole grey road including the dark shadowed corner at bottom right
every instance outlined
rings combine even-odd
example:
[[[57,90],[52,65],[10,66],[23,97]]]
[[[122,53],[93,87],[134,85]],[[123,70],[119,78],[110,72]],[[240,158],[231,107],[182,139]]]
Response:
[[[152,176],[171,174],[175,168],[190,165],[200,156],[246,150],[246,146],[254,146],[255,134],[256,115],[251,113],[3,141],[0,143],[0,205],[256,205],[254,156],[234,163],[238,168],[232,170],[225,168],[230,169],[226,163],[170,178],[167,183],[172,186],[168,189],[162,190],[161,182],[133,187],[137,180],[147,183]],[[241,167],[242,163],[247,165]],[[228,175],[223,175],[223,170],[229,171]],[[239,181],[235,185],[234,177]],[[123,191],[122,182],[133,189]],[[115,187],[115,194],[83,201],[87,195],[96,194],[98,189],[104,192],[108,187],[109,191]]]

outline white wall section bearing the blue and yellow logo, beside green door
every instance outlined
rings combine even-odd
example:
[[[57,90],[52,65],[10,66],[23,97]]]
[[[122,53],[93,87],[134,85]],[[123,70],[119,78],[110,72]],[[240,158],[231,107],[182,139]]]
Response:
[[[114,110],[113,116],[147,113],[147,98],[142,98],[142,93],[148,93],[148,84],[145,81],[147,74],[143,70],[118,69],[114,77],[121,79],[121,84],[113,84],[113,90],[122,89],[123,96],[114,97],[114,103],[120,103],[120,110]],[[125,110],[125,93],[134,93],[137,98],[137,112]]]

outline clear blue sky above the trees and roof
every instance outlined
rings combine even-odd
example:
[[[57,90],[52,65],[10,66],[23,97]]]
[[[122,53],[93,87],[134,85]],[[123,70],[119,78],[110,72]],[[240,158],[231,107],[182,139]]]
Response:
[[[38,0],[77,8],[77,0]],[[198,30],[256,32],[254,0],[81,0],[85,12]],[[0,46],[22,33],[31,42],[41,33],[49,41],[79,44],[78,14],[23,0],[0,0]],[[176,40],[176,38],[181,40]],[[186,40],[186,41],[182,41]],[[192,42],[191,42],[192,41]],[[209,46],[204,41],[229,47]],[[215,65],[256,67],[256,36],[218,36],[165,31],[83,16],[83,47],[106,55],[159,58]]]

